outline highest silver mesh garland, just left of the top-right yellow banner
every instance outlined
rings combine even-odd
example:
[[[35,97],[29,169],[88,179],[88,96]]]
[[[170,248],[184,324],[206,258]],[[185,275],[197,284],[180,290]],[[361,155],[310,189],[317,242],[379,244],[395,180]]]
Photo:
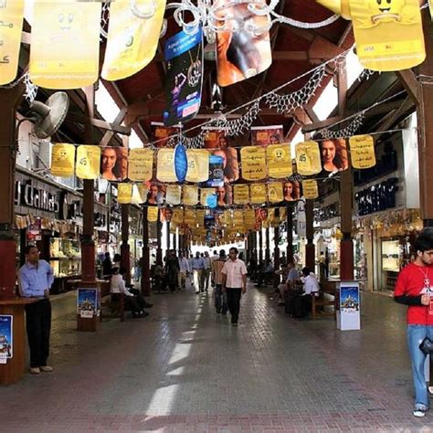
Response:
[[[286,95],[278,95],[277,93],[269,93],[265,100],[270,109],[275,108],[279,114],[288,114],[298,108],[306,105],[314,95],[315,91],[322,84],[322,79],[325,74],[325,66],[316,69],[312,74],[312,78],[300,90],[293,91]]]

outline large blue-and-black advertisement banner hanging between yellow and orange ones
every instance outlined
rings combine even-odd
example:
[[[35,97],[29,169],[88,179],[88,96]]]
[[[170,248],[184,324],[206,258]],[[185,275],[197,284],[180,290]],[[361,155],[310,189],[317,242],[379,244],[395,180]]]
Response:
[[[203,82],[203,31],[181,31],[165,42],[166,108],[164,125],[190,121],[200,109]]]

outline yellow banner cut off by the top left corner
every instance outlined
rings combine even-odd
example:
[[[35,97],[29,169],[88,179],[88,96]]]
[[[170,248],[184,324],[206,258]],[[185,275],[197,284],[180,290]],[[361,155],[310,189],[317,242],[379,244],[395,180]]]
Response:
[[[23,18],[24,0],[0,0],[0,86],[16,79]]]

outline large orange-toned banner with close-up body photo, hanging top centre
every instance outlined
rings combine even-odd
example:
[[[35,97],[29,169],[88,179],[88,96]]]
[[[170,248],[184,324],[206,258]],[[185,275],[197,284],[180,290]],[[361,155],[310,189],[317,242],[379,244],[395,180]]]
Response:
[[[237,5],[229,0],[218,0],[215,5],[216,16],[227,29],[216,33],[218,84],[229,86],[268,69],[272,64],[269,32],[256,36],[248,26],[239,26],[239,23],[265,27],[269,26],[269,16],[254,14],[247,3]]]

